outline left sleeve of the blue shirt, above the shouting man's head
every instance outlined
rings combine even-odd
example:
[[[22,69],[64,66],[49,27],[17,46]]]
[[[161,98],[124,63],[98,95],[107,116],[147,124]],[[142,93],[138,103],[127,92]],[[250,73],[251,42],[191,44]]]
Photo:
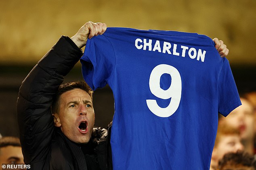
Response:
[[[111,42],[104,34],[88,39],[80,62],[83,78],[92,90],[104,87],[115,68]]]

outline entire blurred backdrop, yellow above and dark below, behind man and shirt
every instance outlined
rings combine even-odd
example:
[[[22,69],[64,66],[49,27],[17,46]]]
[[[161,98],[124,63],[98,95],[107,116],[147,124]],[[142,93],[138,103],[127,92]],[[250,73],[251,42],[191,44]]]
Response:
[[[17,93],[29,70],[61,35],[73,36],[87,21],[218,37],[230,50],[227,58],[239,89],[255,89],[256,0],[0,0],[2,135],[17,135]],[[78,64],[66,80],[79,79]],[[94,97],[101,115],[96,125],[105,126],[113,115],[111,90],[97,90]],[[104,115],[109,117],[105,122]],[[6,129],[11,123],[13,128]]]

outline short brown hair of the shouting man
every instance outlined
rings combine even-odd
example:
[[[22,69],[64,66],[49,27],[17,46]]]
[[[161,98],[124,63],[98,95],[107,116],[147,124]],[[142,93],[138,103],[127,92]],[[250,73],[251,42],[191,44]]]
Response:
[[[61,84],[59,86],[58,91],[55,93],[54,97],[52,98],[52,113],[58,113],[59,110],[59,98],[61,94],[67,92],[69,90],[73,90],[75,88],[80,88],[87,92],[92,100],[93,90],[90,86],[84,81],[77,81],[77,82],[67,82],[65,84]]]

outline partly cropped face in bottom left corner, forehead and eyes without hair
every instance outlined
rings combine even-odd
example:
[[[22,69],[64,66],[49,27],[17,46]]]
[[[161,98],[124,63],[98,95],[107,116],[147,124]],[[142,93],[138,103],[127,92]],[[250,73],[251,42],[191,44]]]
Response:
[[[24,164],[20,146],[6,146],[0,148],[0,164]]]

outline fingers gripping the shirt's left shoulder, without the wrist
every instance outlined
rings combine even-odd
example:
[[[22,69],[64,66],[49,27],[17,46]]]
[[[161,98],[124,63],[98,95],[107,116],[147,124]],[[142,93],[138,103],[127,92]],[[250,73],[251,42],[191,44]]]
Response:
[[[86,23],[86,27],[90,31],[88,36],[89,39],[97,35],[102,35],[107,29],[107,25],[105,23],[92,23],[91,21]]]

